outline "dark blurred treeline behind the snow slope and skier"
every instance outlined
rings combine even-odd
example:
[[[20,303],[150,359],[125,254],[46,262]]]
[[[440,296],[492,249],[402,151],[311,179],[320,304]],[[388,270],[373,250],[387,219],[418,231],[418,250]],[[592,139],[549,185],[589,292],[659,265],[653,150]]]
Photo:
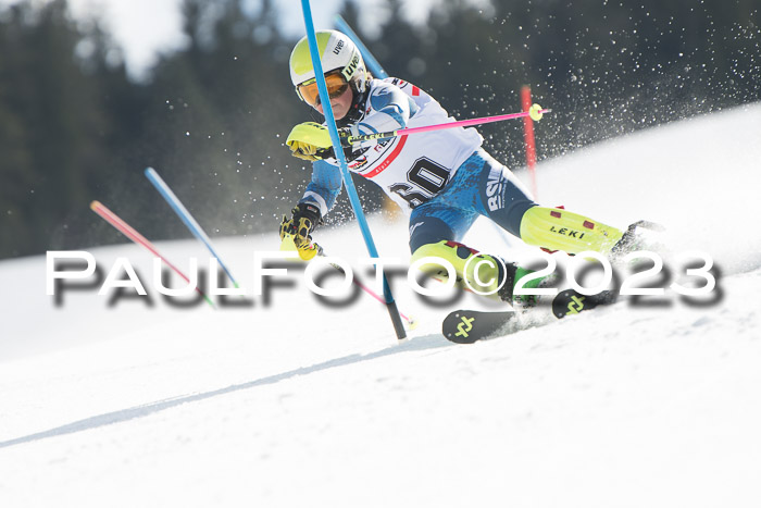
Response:
[[[312,117],[289,80],[296,40],[271,1],[249,4],[186,0],[187,46],[142,82],[97,22],[70,18],[65,0],[0,11],[0,258],[123,241],[90,212],[93,199],[151,239],[187,237],[142,176],[149,165],[212,236],[276,231],[310,175],[284,140]],[[373,16],[360,5],[347,1],[342,15],[385,69],[457,117],[519,110],[529,84],[553,109],[537,125],[540,158],[761,98],[753,0],[494,0],[481,10],[441,0],[415,23],[399,0]],[[363,32],[371,17],[379,25]],[[481,131],[521,165],[520,123]],[[377,207],[376,191],[360,191]],[[347,216],[340,207],[334,221]]]

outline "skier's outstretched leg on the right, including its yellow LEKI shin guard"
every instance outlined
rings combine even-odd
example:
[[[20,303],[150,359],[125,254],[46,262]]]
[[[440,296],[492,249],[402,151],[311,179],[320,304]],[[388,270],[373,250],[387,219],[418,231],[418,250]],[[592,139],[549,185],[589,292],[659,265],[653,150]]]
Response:
[[[479,150],[479,212],[528,245],[578,253],[609,252],[623,232],[567,210],[540,207],[506,166]],[[473,159],[473,158],[471,158]]]

